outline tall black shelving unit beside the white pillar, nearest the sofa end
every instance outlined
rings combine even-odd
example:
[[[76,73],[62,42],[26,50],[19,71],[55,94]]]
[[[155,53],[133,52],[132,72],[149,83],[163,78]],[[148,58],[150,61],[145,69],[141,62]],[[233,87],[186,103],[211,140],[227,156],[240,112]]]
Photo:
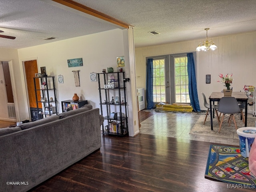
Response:
[[[97,76],[100,94],[100,111],[104,119],[108,122],[107,126],[102,124],[102,134],[125,136],[128,134],[125,72],[97,73]],[[110,76],[114,76],[114,80]],[[115,96],[118,96],[118,102],[116,102]],[[114,103],[112,102],[112,97],[114,97]],[[104,107],[105,110],[103,112]],[[113,112],[119,114],[114,116],[111,114]],[[115,123],[116,129],[111,129],[111,124]]]

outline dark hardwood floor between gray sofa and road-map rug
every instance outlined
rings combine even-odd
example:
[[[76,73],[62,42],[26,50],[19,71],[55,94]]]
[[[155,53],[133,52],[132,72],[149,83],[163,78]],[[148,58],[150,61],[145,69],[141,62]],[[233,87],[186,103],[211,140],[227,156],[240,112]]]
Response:
[[[150,112],[140,112],[140,122]],[[209,142],[138,134],[102,135],[102,147],[30,192],[234,192],[204,178]]]

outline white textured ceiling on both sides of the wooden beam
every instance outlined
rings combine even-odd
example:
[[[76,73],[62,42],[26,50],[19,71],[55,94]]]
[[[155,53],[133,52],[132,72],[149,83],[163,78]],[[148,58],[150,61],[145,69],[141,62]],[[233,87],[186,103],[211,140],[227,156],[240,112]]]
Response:
[[[134,26],[135,47],[256,30],[256,0],[75,0]],[[53,5],[50,0],[0,0],[1,48],[24,48],[118,28]],[[159,35],[148,32],[156,30]],[[42,40],[57,37],[55,40]],[[218,45],[217,45],[218,46]]]

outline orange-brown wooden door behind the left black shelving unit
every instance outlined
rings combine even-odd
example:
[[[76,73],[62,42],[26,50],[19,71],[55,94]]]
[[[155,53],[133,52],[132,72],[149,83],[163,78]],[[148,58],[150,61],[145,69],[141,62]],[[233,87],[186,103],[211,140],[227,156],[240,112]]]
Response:
[[[35,73],[38,73],[37,62],[36,60],[25,61],[24,67],[25,67],[27,87],[28,87],[29,106],[30,108],[36,108],[36,94],[35,94],[33,77],[35,77]],[[40,89],[40,82],[38,78],[36,78],[36,89]],[[40,100],[40,98],[41,98],[40,91],[37,91],[37,99]],[[42,108],[42,105],[40,104],[40,106],[38,107]]]

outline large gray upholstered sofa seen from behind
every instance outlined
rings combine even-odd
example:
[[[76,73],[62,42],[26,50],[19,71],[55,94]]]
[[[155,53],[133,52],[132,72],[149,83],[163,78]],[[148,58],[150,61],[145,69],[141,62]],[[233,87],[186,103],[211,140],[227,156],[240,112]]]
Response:
[[[0,129],[0,191],[24,192],[101,147],[104,118],[91,105]]]

